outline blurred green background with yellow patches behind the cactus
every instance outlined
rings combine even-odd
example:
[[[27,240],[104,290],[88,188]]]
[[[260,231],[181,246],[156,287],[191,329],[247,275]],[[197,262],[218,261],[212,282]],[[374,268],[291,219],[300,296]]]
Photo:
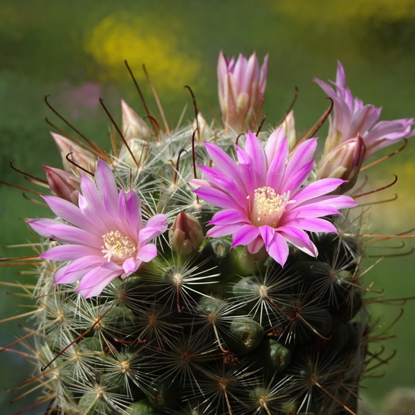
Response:
[[[1,181],[17,185],[28,182],[10,169],[12,158],[19,169],[42,177],[42,164],[61,167],[44,118],[59,127],[64,124],[46,107],[44,95],[50,94],[55,108],[105,149],[109,149],[109,121],[98,98],[104,98],[118,121],[121,97],[143,115],[124,59],[155,109],[142,73],[146,64],[165,111],[172,110],[176,120],[183,105],[190,104],[185,84],[192,86],[206,118],[210,118],[206,100],[218,113],[219,50],[228,56],[256,50],[260,60],[270,53],[264,112],[271,124],[282,118],[297,86],[297,131],[310,128],[328,107],[313,77],[335,79],[337,60],[344,65],[353,94],[383,107],[382,120],[415,116],[414,0],[3,0],[0,17]],[[187,119],[191,118],[190,107]],[[324,137],[326,127],[319,134]],[[372,199],[399,194],[394,203],[374,205],[367,212],[371,232],[393,234],[415,226],[414,140],[403,153],[365,172],[369,190],[389,183],[392,174],[399,178],[394,187]],[[21,190],[0,186],[1,245],[30,241],[28,227],[19,218],[44,216],[46,209],[26,201]],[[402,250],[371,247],[367,254],[391,255],[414,246],[409,239],[405,243]],[[389,243],[393,245],[399,242]],[[26,252],[0,248],[3,257],[30,255]],[[367,264],[377,259],[369,258]],[[385,289],[385,297],[413,296],[414,266],[415,255],[385,258],[368,279],[374,280],[374,289]],[[0,269],[3,282],[33,282],[31,275],[18,275],[17,267]],[[30,310],[19,305],[28,304],[27,298],[8,294],[15,288],[0,288],[1,318]],[[400,311],[380,304],[373,310],[385,327]],[[415,302],[408,302],[403,317],[389,331],[398,337],[385,341],[385,356],[396,349],[396,357],[374,371],[380,378],[362,383],[362,394],[375,406],[394,387],[415,387],[414,320]],[[19,323],[30,326],[24,319],[1,324],[0,346],[25,333]],[[374,350],[379,347],[372,345]],[[33,404],[36,392],[9,405],[19,391],[3,391],[29,376],[28,362],[3,352],[0,367],[0,414]],[[42,407],[34,407],[26,414],[41,412]]]

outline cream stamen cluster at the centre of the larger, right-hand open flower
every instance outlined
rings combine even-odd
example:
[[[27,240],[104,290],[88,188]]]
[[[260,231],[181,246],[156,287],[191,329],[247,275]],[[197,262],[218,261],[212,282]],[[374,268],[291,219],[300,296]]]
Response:
[[[289,190],[284,194],[276,194],[272,187],[258,187],[254,192],[252,202],[252,225],[268,225],[271,228],[277,228],[279,219],[286,210],[286,205],[294,202],[290,200]]]

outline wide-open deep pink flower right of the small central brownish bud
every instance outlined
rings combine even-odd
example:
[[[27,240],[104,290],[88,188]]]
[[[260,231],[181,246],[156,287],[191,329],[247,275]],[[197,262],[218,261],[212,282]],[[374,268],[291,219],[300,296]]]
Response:
[[[244,245],[252,254],[264,245],[268,254],[284,266],[288,242],[308,255],[318,252],[305,231],[337,232],[321,216],[340,214],[338,209],[356,203],[349,196],[326,194],[344,183],[324,178],[304,187],[313,169],[317,139],[306,140],[288,160],[284,128],[274,131],[265,149],[248,132],[245,149],[237,149],[238,163],[218,146],[205,142],[214,167],[200,166],[207,180],[194,179],[194,192],[223,209],[214,214],[207,237],[232,234],[232,246]]]

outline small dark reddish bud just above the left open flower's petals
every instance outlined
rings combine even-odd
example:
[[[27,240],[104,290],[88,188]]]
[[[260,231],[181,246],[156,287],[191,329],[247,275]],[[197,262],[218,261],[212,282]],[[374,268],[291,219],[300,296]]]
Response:
[[[50,194],[66,201],[78,204],[78,195],[81,190],[80,179],[61,169],[44,166],[46,180],[49,183]]]

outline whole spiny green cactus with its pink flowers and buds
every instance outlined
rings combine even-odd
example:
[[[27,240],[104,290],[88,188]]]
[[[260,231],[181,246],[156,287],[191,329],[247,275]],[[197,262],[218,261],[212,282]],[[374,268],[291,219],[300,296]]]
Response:
[[[255,89],[252,56],[241,80],[221,54],[227,82]],[[332,99],[334,140],[335,122],[353,119]],[[238,129],[258,129],[252,111]],[[53,134],[66,169],[46,168],[55,219],[29,221],[43,253],[27,385],[41,382],[46,414],[356,414],[374,323],[360,216],[342,193],[389,137],[366,122],[357,156],[336,147],[319,169],[313,130],[287,142],[284,127],[237,135],[227,113],[224,127],[197,113],[175,129],[125,102],[122,114],[113,154]],[[389,144],[411,135],[399,122]]]

